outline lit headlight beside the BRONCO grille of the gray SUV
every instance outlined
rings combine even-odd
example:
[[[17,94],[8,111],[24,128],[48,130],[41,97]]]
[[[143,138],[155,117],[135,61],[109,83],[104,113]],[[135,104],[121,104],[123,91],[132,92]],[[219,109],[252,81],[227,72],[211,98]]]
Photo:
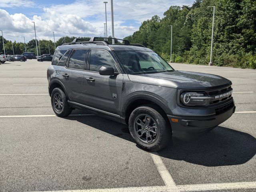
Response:
[[[211,98],[205,92],[182,92],[180,102],[186,106],[205,106]]]

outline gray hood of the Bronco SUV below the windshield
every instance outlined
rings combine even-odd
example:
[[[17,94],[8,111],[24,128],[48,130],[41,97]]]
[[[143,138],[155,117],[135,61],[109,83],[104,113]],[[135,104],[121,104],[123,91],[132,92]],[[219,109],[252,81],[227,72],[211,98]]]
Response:
[[[178,89],[214,89],[231,85],[232,82],[224,77],[190,71],[173,71],[152,74],[129,74],[132,82],[152,84]]]

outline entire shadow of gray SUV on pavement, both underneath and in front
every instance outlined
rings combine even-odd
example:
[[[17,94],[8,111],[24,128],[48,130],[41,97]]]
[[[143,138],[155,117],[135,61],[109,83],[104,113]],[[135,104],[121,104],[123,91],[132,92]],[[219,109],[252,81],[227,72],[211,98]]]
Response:
[[[99,116],[66,119],[76,120],[134,143],[127,125]],[[248,162],[256,154],[256,138],[244,132],[218,126],[186,142],[174,139],[173,144],[169,144],[158,154],[164,158],[183,160],[203,166],[238,165]]]

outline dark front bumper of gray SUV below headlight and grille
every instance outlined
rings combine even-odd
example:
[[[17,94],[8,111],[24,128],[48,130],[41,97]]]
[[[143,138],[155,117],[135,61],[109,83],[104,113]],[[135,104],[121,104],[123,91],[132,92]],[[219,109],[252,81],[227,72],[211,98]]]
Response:
[[[186,134],[200,134],[207,132],[226,121],[235,112],[236,106],[218,115],[211,116],[175,116],[167,115],[174,137],[183,138]],[[172,119],[176,119],[173,122]],[[178,122],[177,122],[178,120]]]

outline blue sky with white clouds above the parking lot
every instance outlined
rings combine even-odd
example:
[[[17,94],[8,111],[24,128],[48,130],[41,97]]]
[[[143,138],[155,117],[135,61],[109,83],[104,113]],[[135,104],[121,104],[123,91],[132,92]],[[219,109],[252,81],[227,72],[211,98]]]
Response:
[[[104,36],[105,4],[107,30],[112,35],[110,0],[0,0],[0,30],[4,38],[26,42],[35,38],[55,40],[62,36]],[[116,38],[132,35],[154,15],[161,18],[170,6],[193,4],[194,0],[113,0]],[[0,34],[1,35],[1,34]]]

